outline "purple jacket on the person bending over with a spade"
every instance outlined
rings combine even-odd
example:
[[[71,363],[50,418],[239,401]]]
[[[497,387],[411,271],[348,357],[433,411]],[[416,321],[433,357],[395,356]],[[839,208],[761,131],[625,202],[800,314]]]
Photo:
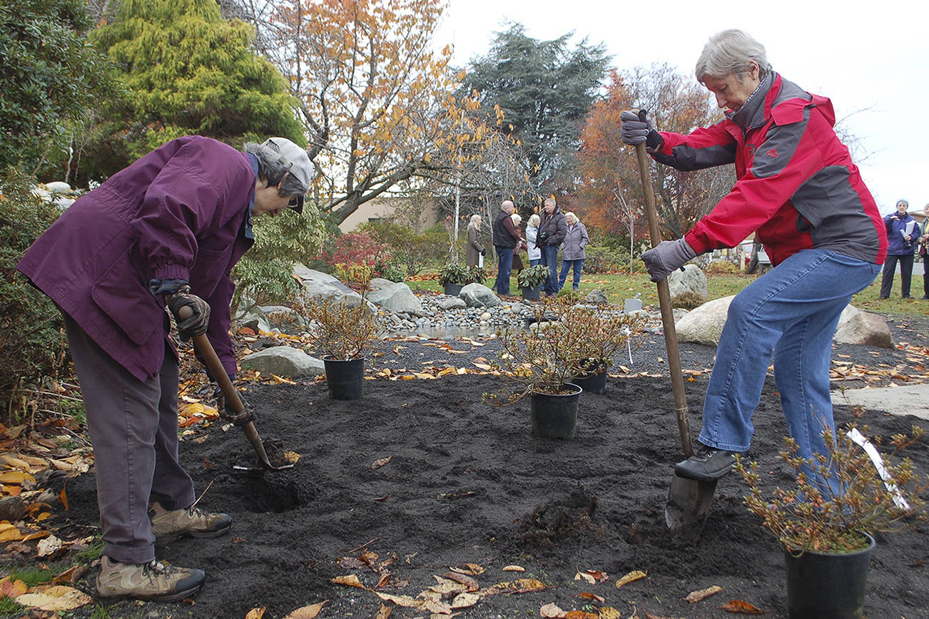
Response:
[[[254,192],[248,155],[179,137],[74,202],[17,269],[138,380],[162,367],[170,328],[149,281],[185,279],[210,304],[207,336],[234,374],[229,271],[255,242],[245,238]]]

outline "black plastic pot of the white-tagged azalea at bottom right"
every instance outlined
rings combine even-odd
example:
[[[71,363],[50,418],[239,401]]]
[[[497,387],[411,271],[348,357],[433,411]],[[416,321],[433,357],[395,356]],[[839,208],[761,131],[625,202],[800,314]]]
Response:
[[[863,550],[825,553],[784,548],[791,619],[861,619],[874,538]]]

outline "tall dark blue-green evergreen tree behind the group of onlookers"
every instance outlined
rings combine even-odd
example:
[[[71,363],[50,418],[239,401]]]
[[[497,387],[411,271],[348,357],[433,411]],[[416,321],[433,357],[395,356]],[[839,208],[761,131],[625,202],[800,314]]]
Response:
[[[539,41],[514,24],[471,62],[460,91],[477,90],[482,108],[503,110],[500,129],[519,141],[523,173],[540,198],[573,187],[581,123],[608,62],[603,45],[584,39],[570,48],[570,36]]]

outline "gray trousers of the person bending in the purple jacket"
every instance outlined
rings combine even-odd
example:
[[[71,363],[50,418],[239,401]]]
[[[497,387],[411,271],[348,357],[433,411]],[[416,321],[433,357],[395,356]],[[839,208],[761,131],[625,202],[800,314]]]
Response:
[[[64,316],[94,445],[103,551],[113,561],[155,558],[149,502],[189,507],[193,482],[177,462],[177,358],[164,342],[157,376],[138,380]]]

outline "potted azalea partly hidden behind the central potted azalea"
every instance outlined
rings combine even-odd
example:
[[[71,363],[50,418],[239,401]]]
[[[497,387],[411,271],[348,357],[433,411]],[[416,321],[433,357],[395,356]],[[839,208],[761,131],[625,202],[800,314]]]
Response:
[[[582,371],[573,382],[584,393],[604,393],[607,371],[613,365],[613,358],[624,348],[631,350],[633,337],[641,332],[644,320],[604,305],[574,306],[569,311],[578,312],[585,325],[580,342]]]

